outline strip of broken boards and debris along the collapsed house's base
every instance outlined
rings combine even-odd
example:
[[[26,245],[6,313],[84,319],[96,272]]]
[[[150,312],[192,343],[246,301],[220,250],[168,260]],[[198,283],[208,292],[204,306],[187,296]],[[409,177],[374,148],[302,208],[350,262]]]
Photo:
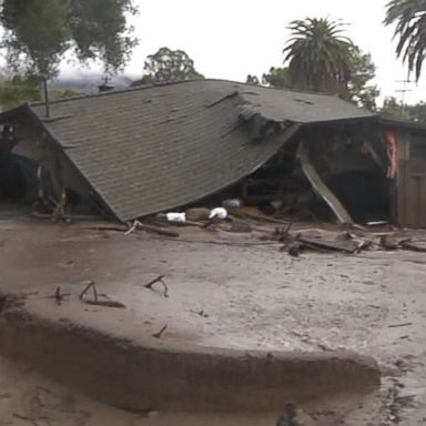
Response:
[[[418,233],[397,229],[387,221],[371,222],[366,226],[346,222],[335,225],[308,223],[300,222],[294,216],[282,219],[264,214],[258,207],[243,205],[240,200],[226,200],[222,205],[227,207],[189,207],[182,212],[143,217],[129,222],[126,226],[99,229],[120,231],[125,235],[143,231],[172,239],[187,236],[189,232],[184,229],[193,229],[209,231],[210,240],[206,242],[211,244],[230,245],[239,245],[237,234],[241,234],[244,245],[277,245],[281,252],[294,257],[304,252],[337,252],[349,255],[365,251],[426,252],[426,237],[422,241]],[[193,232],[190,234],[194,235]],[[235,236],[232,237],[232,234]]]

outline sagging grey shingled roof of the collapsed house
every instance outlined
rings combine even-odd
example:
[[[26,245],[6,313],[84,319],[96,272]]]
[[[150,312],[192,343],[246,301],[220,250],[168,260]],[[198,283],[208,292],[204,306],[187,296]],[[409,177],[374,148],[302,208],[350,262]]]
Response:
[[[213,194],[264,164],[297,124],[366,119],[333,95],[194,80],[31,105],[121,221]],[[253,140],[244,120],[283,123]],[[285,130],[286,129],[286,130]]]

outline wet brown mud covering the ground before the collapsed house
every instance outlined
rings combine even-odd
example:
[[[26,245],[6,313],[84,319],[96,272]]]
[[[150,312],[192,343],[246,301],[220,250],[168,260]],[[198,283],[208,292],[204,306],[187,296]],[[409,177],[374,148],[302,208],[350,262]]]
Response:
[[[253,235],[185,229],[171,240],[98,231],[95,225],[0,220],[1,291],[26,293],[48,314],[92,326],[114,322],[128,333],[153,334],[166,325],[165,339],[239,348],[354,349],[378,361],[384,386],[376,412],[361,409],[359,419],[346,424],[426,423],[425,254],[305,253],[294,258]],[[165,276],[169,297],[161,284],[144,287],[158,275]],[[128,308],[118,313],[67,300],[59,306],[49,298],[60,285],[71,293],[69,300],[77,300],[87,280]],[[108,425],[119,418],[129,425],[190,424],[182,415],[172,420],[124,414],[53,384],[45,393],[40,390],[43,379],[22,368],[0,362],[0,424]],[[65,404],[72,412],[64,417],[68,423],[54,417],[49,404],[57,403],[44,403],[44,394],[59,398],[60,407],[63,398],[72,402]],[[39,404],[39,414],[31,404]],[[274,424],[271,414],[250,418],[204,416],[194,424]]]

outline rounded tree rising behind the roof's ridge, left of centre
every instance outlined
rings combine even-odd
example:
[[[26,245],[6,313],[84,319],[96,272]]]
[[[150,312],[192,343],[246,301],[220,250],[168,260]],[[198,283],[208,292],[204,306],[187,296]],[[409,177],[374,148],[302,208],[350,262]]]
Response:
[[[131,85],[152,84],[168,81],[203,79],[194,67],[194,61],[183,50],[161,48],[150,54],[143,67],[145,74]]]

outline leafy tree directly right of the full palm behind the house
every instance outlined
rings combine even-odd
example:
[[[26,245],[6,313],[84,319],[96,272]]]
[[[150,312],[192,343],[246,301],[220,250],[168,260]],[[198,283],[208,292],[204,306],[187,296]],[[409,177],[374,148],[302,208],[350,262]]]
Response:
[[[357,45],[351,47],[351,79],[347,82],[347,100],[369,111],[376,111],[376,99],[381,94],[377,85],[369,84],[376,77],[376,67],[369,53]]]

